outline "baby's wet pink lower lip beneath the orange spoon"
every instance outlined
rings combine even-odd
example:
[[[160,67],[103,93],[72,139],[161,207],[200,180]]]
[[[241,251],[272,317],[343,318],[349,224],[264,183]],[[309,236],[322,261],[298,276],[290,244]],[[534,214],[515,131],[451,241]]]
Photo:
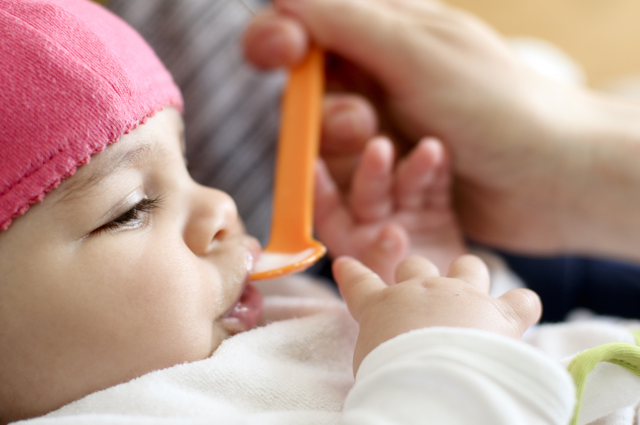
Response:
[[[236,303],[219,319],[220,325],[228,335],[252,330],[258,325],[264,312],[264,303],[260,291],[247,282]]]

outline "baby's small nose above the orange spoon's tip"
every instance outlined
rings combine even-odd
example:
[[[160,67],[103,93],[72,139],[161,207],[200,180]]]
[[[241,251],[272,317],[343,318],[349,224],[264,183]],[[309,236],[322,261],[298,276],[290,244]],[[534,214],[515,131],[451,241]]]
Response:
[[[184,241],[196,255],[205,255],[218,241],[242,231],[236,203],[223,191],[198,185],[191,195],[191,209]]]

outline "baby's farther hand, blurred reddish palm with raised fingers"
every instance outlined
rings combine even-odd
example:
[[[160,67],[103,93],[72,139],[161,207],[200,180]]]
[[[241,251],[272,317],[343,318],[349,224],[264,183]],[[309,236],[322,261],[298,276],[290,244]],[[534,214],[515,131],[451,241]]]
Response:
[[[394,283],[397,264],[410,253],[428,257],[446,273],[466,252],[450,186],[449,157],[440,141],[424,138],[394,170],[391,141],[374,138],[346,198],[319,163],[317,235],[333,257],[355,257],[387,284]]]

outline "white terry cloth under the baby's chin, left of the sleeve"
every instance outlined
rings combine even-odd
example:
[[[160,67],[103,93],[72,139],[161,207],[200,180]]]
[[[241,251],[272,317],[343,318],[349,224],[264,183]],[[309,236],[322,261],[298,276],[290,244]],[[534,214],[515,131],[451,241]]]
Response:
[[[279,292],[322,295],[296,279],[280,282]],[[335,423],[354,382],[358,325],[342,301],[324,294],[266,296],[265,320],[278,321],[228,338],[211,357],[145,374],[28,422],[156,424],[170,417],[170,423],[233,424],[256,412],[255,423],[283,424],[287,417],[291,424]],[[291,413],[283,416],[285,410]]]

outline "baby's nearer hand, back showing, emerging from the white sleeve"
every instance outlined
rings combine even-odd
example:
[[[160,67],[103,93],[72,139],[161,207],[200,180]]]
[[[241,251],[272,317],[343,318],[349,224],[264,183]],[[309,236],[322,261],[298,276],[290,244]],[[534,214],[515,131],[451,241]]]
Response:
[[[516,339],[540,319],[538,294],[513,289],[489,296],[489,274],[474,255],[451,263],[447,277],[417,255],[396,270],[396,285],[387,286],[376,273],[349,257],[333,262],[333,275],[349,312],[360,324],[353,353],[353,373],[362,359],[388,339],[429,326],[477,328]]]

